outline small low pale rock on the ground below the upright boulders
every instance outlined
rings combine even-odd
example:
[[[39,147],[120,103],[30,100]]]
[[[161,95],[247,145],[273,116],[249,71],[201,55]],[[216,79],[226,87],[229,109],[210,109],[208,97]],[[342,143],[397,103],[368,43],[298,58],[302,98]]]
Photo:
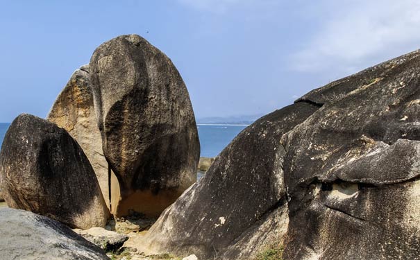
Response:
[[[91,227],[87,230],[74,229],[73,231],[107,252],[118,250],[128,240],[127,235],[109,231],[102,227]]]

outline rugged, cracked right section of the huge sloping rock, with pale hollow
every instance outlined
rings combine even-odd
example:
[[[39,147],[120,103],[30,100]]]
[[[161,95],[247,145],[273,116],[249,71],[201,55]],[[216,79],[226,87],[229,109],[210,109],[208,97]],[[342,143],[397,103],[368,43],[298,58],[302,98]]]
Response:
[[[342,93],[282,139],[285,259],[419,258],[420,52],[381,66],[306,95]]]

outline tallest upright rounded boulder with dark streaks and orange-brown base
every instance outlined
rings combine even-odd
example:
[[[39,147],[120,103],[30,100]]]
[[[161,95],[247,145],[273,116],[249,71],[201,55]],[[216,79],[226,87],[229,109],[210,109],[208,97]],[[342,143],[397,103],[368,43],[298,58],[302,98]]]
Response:
[[[156,47],[122,35],[94,51],[90,80],[103,153],[119,180],[115,215],[159,216],[196,180],[199,139],[183,79]]]

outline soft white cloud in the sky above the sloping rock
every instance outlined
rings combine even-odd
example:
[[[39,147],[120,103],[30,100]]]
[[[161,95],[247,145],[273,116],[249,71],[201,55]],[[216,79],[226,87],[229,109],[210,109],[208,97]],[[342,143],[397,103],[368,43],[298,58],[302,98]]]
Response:
[[[308,44],[292,54],[293,69],[355,72],[420,48],[419,0],[333,1],[322,2],[333,15],[321,17]]]

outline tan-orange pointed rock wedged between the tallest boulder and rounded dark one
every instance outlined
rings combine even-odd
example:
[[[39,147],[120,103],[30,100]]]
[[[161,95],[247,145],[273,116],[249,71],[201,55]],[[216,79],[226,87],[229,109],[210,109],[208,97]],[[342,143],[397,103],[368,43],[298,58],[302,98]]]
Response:
[[[103,156],[102,137],[94,111],[89,66],[74,71],[51,107],[47,120],[64,128],[83,148],[109,208],[108,162]]]

